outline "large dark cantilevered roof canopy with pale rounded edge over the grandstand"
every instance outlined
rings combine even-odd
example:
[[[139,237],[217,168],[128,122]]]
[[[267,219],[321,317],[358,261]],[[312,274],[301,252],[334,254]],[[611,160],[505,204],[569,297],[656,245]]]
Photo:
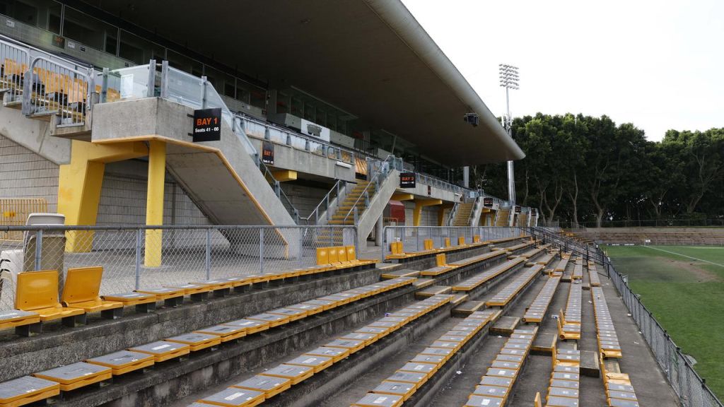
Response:
[[[274,86],[308,91],[442,164],[524,156],[399,0],[85,2]],[[479,114],[478,127],[463,121],[468,112]]]

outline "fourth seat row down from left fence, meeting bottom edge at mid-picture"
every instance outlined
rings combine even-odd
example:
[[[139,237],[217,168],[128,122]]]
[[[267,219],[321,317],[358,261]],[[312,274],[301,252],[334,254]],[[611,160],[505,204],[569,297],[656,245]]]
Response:
[[[418,353],[395,374],[384,379],[379,386],[353,403],[355,407],[397,407],[408,400],[438,370],[478,335],[487,324],[492,324],[501,311],[486,310],[473,312],[460,323],[445,332],[427,348]]]

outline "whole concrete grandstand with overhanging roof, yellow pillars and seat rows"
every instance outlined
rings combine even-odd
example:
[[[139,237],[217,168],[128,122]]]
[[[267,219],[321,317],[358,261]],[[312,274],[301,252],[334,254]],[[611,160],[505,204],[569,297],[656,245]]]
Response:
[[[174,5],[0,8],[0,407],[715,406],[400,1]]]

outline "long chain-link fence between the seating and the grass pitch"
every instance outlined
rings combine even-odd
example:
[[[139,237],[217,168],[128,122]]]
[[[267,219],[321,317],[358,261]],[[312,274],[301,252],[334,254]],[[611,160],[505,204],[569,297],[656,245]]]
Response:
[[[536,234],[536,230],[531,229],[531,232]],[[555,242],[557,246],[565,246],[570,251],[603,264],[683,407],[724,407],[702,377],[696,374],[689,358],[681,352],[681,348],[673,342],[651,311],[641,303],[639,296],[633,293],[628,286],[628,279],[616,271],[611,260],[597,246],[579,246],[573,244],[573,241],[565,241],[560,235],[547,235],[547,239]]]

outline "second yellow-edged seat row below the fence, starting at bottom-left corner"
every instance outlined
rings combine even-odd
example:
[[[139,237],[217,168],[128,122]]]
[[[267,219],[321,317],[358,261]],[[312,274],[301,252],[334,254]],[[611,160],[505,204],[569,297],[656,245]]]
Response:
[[[292,304],[282,309],[274,309],[266,313],[247,316],[244,319],[196,330],[185,335],[177,335],[166,340],[132,347],[126,351],[90,358],[84,362],[39,372],[33,374],[33,376],[9,380],[0,383],[0,406],[22,406],[35,400],[57,395],[61,390],[70,391],[96,382],[102,382],[111,378],[111,375],[133,372],[154,363],[184,356],[192,351],[201,351],[217,346],[220,343],[236,340],[272,327],[278,327],[279,325],[303,319],[306,316],[359,301],[371,295],[412,284],[414,280],[413,277],[398,277],[392,280],[376,282],[360,288],[334,293],[333,295],[324,295],[311,301]],[[445,302],[447,301],[450,301],[449,297],[445,300]],[[387,329],[385,335],[413,319],[412,316],[408,316],[411,319],[392,316],[389,318],[377,322],[378,325],[387,324],[387,327],[380,326],[380,328]],[[360,342],[356,341],[355,345],[363,346],[363,343]],[[340,347],[342,345],[345,345],[345,343],[340,343]],[[36,379],[46,379],[46,382],[38,382]]]

